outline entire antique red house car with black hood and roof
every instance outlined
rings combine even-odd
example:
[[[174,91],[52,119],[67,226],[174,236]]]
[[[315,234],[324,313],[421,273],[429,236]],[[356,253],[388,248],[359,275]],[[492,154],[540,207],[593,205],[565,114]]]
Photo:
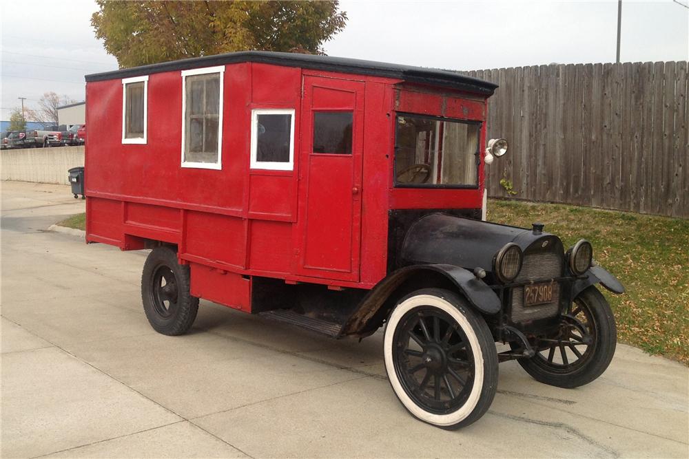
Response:
[[[413,416],[480,418],[499,361],[575,387],[615,350],[582,239],[483,222],[493,83],[354,59],[238,52],[87,81],[88,242],[152,248],[143,307],[182,334],[204,298],[333,337],[385,325]],[[511,350],[498,352],[495,342]]]

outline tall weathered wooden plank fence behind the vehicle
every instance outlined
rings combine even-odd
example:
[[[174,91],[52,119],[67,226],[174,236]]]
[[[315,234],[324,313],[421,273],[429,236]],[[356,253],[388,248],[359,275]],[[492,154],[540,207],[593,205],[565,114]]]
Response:
[[[462,72],[500,85],[489,195],[689,217],[687,62],[540,65]]]

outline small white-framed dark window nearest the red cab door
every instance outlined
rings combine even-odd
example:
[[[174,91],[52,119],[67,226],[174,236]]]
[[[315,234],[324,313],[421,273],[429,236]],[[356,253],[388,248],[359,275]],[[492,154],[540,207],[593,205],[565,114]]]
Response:
[[[294,110],[251,111],[251,169],[294,169]]]

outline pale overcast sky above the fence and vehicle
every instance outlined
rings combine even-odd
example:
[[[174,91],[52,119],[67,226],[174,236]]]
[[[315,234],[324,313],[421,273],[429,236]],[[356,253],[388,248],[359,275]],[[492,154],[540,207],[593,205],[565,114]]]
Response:
[[[689,0],[622,2],[622,62],[689,60]],[[617,1],[353,1],[331,56],[452,70],[615,61]],[[85,74],[117,68],[90,24],[92,0],[0,1],[0,120]]]

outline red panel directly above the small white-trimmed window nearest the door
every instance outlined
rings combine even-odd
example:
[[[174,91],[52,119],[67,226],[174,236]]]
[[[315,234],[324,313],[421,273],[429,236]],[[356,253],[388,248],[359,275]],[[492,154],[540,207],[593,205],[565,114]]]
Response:
[[[294,67],[251,64],[251,102],[294,107],[300,99],[301,71]]]

